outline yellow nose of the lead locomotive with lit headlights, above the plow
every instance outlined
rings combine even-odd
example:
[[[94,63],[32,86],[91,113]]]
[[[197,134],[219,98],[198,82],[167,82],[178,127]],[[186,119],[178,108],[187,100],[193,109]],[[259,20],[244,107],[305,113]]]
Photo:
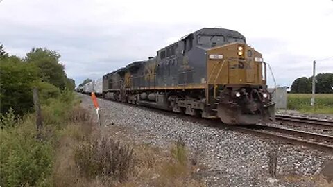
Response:
[[[258,53],[259,54],[259,53]],[[209,84],[262,84],[262,64],[255,62],[255,51],[243,43],[208,51]]]

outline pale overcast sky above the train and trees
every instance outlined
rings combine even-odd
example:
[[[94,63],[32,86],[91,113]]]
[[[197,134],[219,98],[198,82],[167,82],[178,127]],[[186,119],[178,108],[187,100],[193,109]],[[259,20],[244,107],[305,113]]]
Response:
[[[280,86],[311,76],[313,60],[318,73],[333,72],[332,0],[0,0],[6,51],[20,57],[33,47],[58,51],[76,84],[216,26],[243,34],[271,64]]]

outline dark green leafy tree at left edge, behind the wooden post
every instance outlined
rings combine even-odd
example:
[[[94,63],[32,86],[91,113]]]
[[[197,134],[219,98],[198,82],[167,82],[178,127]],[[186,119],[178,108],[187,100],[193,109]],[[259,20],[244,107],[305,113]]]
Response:
[[[1,51],[1,54],[7,54]],[[39,59],[34,59],[38,61]],[[33,110],[33,87],[40,90],[40,100],[60,96],[60,89],[42,80],[42,69],[35,63],[26,63],[14,55],[0,58],[0,113],[14,109],[15,114],[23,115]],[[65,72],[64,72],[65,74]],[[67,80],[67,78],[66,78]]]

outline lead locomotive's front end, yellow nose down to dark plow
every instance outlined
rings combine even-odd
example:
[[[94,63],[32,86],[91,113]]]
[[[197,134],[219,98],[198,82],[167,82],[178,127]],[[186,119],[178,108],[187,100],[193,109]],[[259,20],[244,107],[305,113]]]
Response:
[[[242,42],[207,51],[208,103],[218,102],[223,123],[255,124],[274,120],[262,54]]]

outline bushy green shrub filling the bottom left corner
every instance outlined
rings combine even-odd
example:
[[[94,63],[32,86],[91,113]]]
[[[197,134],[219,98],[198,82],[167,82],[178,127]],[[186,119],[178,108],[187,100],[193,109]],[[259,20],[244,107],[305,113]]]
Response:
[[[37,186],[51,173],[53,147],[37,141],[33,121],[0,130],[0,186]]]

